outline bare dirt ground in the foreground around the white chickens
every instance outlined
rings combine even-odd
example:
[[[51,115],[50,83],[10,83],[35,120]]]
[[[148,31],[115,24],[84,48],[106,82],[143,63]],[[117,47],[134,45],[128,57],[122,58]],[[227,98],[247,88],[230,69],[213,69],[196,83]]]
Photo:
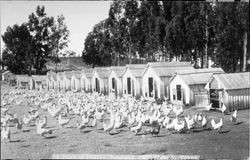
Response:
[[[1,85],[3,90],[8,90]],[[3,91],[2,90],[2,91]],[[21,105],[10,105],[10,113],[17,113],[18,117],[27,114],[27,102]],[[230,115],[223,116],[220,112],[203,111],[208,118],[224,117],[224,126],[221,133],[213,130],[196,128],[190,133],[172,133],[161,129],[158,137],[152,135],[133,135],[127,127],[120,132],[112,131],[107,135],[101,129],[87,128],[80,133],[76,121],[80,117],[71,116],[68,127],[62,128],[56,119],[48,113],[39,110],[48,117],[48,128],[53,130],[52,135],[43,138],[36,134],[36,126],[25,126],[22,132],[11,127],[11,142],[1,143],[1,159],[40,159],[51,158],[52,154],[131,154],[131,155],[199,155],[202,159],[247,159],[249,157],[249,110],[238,112],[238,125],[230,122]],[[183,115],[193,115],[201,112],[196,108],[186,108]],[[141,133],[146,126],[143,126]]]

